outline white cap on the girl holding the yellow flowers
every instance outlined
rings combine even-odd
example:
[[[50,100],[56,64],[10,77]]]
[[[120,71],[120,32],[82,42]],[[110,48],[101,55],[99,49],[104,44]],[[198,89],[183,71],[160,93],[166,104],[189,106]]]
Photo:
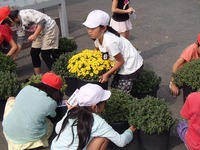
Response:
[[[96,28],[100,25],[107,26],[109,21],[110,17],[106,12],[102,10],[93,10],[88,14],[87,19],[83,25],[88,28]]]

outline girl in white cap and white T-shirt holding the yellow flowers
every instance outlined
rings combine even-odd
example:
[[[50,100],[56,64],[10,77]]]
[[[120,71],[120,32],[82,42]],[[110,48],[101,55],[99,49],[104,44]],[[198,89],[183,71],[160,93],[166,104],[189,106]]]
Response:
[[[107,82],[115,73],[111,87],[130,93],[133,81],[143,68],[143,58],[129,40],[120,36],[109,24],[109,15],[102,10],[93,10],[83,23],[103,59],[115,61],[114,66],[103,74],[99,82]]]

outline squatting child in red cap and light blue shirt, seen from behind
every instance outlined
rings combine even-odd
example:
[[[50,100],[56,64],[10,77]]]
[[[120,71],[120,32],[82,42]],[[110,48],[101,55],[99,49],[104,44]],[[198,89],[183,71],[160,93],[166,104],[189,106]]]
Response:
[[[47,72],[40,83],[25,86],[7,100],[2,125],[9,150],[48,146],[53,124],[47,116],[56,116],[62,84],[58,75]]]

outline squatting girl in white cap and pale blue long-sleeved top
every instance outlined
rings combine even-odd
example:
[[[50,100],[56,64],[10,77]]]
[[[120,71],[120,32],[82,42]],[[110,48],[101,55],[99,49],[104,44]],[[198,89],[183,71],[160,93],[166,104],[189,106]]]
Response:
[[[82,86],[75,95],[77,105],[66,102],[68,111],[56,125],[58,135],[52,141],[51,150],[106,150],[109,140],[119,147],[130,143],[136,128],[130,126],[120,135],[97,115],[104,110],[110,96],[109,90],[97,84]]]

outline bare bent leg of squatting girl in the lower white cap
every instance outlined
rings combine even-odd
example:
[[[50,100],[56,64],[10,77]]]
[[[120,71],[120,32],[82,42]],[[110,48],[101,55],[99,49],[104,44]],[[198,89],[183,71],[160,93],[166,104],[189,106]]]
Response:
[[[87,146],[87,150],[106,150],[109,140],[103,137],[93,138]]]

